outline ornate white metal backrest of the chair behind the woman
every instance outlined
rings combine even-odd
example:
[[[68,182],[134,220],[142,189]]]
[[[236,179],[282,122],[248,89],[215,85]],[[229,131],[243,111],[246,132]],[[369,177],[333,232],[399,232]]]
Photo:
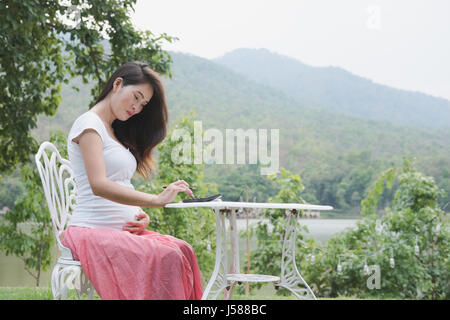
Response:
[[[48,141],[41,144],[35,160],[44,187],[53,232],[59,248],[63,250],[65,247],[61,245],[60,236],[72,217],[77,192],[70,161],[62,158],[58,149]]]

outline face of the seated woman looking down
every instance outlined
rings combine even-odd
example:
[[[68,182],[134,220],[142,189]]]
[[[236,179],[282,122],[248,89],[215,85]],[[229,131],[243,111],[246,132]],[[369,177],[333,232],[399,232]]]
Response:
[[[126,121],[142,111],[153,96],[148,83],[123,86],[123,79],[117,78],[111,95],[111,108],[116,119]]]

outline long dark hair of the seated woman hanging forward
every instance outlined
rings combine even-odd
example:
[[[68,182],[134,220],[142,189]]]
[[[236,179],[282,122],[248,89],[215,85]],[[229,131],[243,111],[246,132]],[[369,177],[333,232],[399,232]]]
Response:
[[[94,105],[108,95],[118,77],[123,79],[123,86],[148,83],[153,88],[153,96],[141,112],[126,121],[116,119],[112,123],[114,135],[136,158],[138,172],[148,178],[147,169],[152,173],[155,165],[152,151],[167,133],[168,112],[164,88],[158,73],[147,64],[128,62],[113,73]]]

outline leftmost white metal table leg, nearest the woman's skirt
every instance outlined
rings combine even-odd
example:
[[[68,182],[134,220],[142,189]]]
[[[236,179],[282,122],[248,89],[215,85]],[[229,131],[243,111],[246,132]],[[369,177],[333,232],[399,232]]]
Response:
[[[216,263],[209,282],[203,291],[202,300],[215,300],[227,286],[227,246],[225,215],[220,208],[214,209],[216,215]],[[211,297],[209,297],[211,295]]]

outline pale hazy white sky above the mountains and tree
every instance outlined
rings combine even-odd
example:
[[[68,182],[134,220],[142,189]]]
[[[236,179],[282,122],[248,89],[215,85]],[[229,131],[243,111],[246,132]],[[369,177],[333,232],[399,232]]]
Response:
[[[132,21],[167,50],[266,48],[450,100],[450,0],[138,0]]]

